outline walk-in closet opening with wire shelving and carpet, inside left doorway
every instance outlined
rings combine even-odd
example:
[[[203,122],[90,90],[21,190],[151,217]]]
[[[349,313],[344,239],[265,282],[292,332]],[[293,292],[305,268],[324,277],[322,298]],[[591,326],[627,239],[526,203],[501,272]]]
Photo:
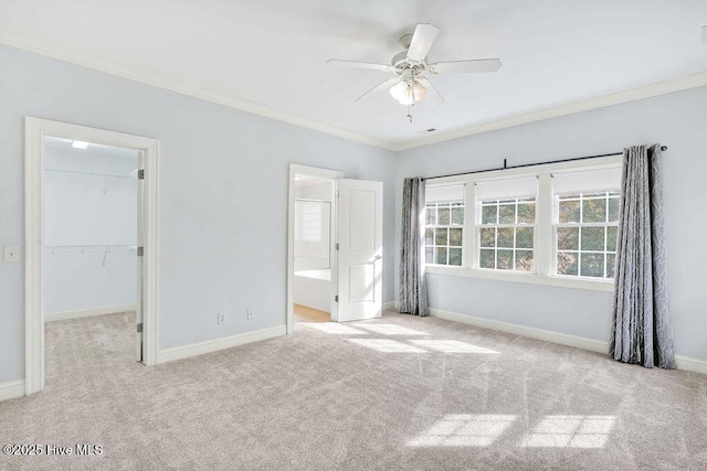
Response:
[[[143,361],[141,152],[44,137],[48,378]]]

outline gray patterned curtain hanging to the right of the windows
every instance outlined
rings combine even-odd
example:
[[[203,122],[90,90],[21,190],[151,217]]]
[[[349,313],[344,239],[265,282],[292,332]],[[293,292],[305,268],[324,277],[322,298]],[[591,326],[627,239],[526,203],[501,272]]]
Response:
[[[624,149],[609,353],[674,368],[667,309],[661,146]]]

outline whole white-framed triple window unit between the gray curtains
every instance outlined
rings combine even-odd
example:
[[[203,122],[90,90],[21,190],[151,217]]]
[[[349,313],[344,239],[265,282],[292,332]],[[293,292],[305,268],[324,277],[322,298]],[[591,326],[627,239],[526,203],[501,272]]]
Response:
[[[611,291],[621,157],[429,181],[430,272]]]

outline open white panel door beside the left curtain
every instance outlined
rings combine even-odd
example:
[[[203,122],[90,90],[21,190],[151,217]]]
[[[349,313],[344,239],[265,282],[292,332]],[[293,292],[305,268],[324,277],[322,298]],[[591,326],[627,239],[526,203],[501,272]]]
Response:
[[[338,180],[337,288],[339,322],[382,312],[383,184]]]

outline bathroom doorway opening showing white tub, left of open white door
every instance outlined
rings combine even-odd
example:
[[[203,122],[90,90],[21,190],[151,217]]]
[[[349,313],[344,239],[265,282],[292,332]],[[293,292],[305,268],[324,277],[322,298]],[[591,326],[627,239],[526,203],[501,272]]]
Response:
[[[329,322],[335,251],[336,180],[296,172],[294,176],[294,314],[297,322]]]

